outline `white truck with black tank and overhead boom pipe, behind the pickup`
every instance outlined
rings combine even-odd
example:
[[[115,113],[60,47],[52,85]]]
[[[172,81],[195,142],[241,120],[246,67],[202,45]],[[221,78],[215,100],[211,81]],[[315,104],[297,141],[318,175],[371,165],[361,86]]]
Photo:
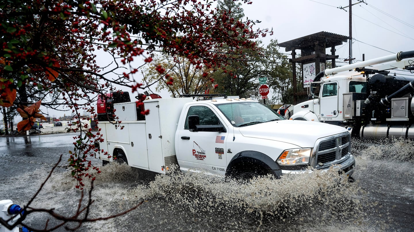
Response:
[[[387,71],[414,70],[411,57],[414,51],[326,69],[311,83],[313,99],[295,105],[293,114],[289,108],[290,119],[340,125],[361,138],[414,139],[414,78]]]

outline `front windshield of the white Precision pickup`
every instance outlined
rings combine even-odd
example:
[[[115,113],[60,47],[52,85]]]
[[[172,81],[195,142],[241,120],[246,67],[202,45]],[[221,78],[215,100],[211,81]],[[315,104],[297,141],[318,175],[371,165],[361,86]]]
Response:
[[[285,120],[280,114],[259,102],[229,102],[217,108],[234,126],[247,126],[276,120]]]

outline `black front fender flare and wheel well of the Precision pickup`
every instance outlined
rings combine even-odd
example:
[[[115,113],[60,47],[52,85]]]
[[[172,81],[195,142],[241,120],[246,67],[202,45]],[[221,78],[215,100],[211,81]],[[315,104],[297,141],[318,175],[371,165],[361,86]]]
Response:
[[[233,158],[231,158],[229,165],[226,168],[226,176],[231,176],[235,171],[240,170],[241,168],[246,168],[248,170],[251,167],[262,167],[267,175],[271,173],[277,177],[282,175],[282,170],[279,165],[269,156],[256,151],[243,151],[237,153]]]

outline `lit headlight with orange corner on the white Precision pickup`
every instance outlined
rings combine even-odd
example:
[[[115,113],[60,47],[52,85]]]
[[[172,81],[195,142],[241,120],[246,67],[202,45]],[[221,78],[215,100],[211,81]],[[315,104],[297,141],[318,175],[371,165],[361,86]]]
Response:
[[[296,148],[284,150],[277,159],[280,165],[301,165],[308,164],[312,154],[312,148]]]

